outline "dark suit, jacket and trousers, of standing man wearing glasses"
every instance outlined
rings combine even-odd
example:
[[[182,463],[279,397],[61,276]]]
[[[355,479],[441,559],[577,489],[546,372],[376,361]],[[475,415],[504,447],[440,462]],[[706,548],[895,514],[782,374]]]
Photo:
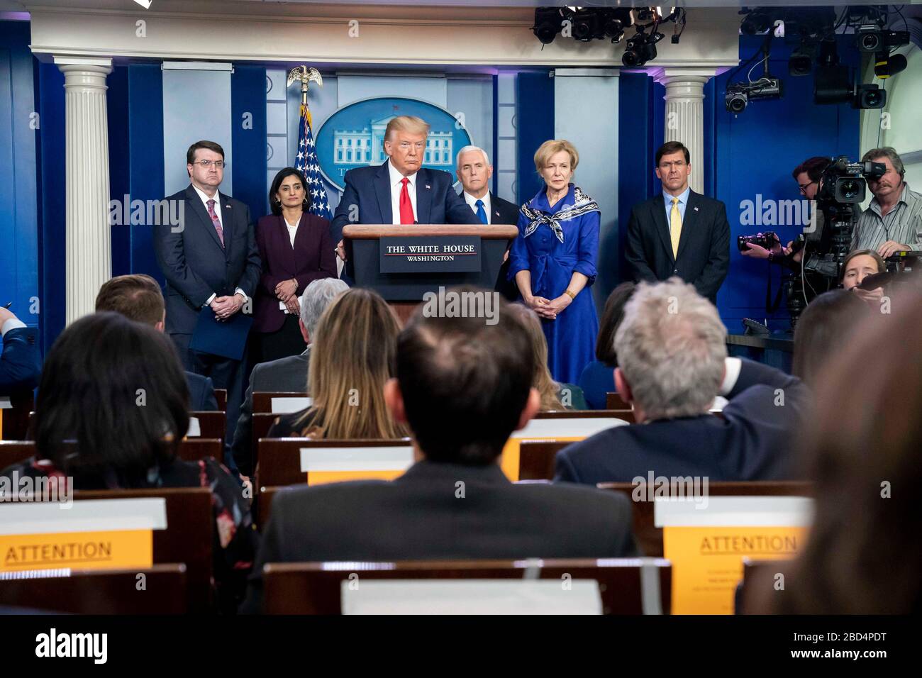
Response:
[[[240,200],[216,194],[221,209],[224,246],[201,198],[190,184],[166,198],[183,201],[181,228],[154,227],[154,253],[167,279],[166,331],[176,344],[185,369],[210,376],[216,387],[227,388],[227,434],[231,439],[243,398],[242,361],[189,350],[198,315],[212,294],[230,296],[239,287],[253,297],[261,273],[259,250],[250,208]],[[216,205],[217,209],[217,205]],[[174,232],[174,230],[176,232]],[[207,313],[211,313],[210,309]],[[240,311],[242,313],[242,310]]]

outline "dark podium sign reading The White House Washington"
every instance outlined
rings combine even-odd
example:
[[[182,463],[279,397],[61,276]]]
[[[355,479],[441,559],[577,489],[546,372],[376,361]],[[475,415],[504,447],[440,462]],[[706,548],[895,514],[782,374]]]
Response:
[[[480,271],[480,238],[476,235],[396,236],[380,242],[382,273]]]

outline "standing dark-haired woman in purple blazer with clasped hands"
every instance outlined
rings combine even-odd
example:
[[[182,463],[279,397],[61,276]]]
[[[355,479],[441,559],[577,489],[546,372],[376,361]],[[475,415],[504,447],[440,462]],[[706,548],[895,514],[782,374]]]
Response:
[[[256,225],[263,271],[256,288],[254,339],[261,363],[304,351],[299,300],[312,280],[336,278],[330,222],[307,211],[306,182],[286,167],[269,189],[272,214]]]

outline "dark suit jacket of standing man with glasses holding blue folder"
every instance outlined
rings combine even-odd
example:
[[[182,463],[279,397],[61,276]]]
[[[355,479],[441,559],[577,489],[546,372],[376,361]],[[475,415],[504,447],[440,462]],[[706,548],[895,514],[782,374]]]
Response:
[[[192,334],[212,293],[231,295],[239,287],[253,297],[256,291],[261,262],[250,208],[220,193],[219,198],[224,247],[192,185],[165,198],[184,202],[181,227],[154,227],[154,252],[167,279],[169,334]]]

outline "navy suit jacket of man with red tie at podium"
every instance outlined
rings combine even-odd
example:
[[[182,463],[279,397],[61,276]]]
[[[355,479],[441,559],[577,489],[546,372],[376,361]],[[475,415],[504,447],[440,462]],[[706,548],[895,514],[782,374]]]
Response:
[[[388,161],[378,167],[357,167],[346,172],[346,188],[339,198],[337,213],[330,222],[330,235],[336,245],[343,237],[349,216],[351,223],[393,223],[391,214],[391,177]],[[425,168],[416,175],[417,223],[471,223],[480,220],[464,198],[455,193],[454,178],[442,170]]]

